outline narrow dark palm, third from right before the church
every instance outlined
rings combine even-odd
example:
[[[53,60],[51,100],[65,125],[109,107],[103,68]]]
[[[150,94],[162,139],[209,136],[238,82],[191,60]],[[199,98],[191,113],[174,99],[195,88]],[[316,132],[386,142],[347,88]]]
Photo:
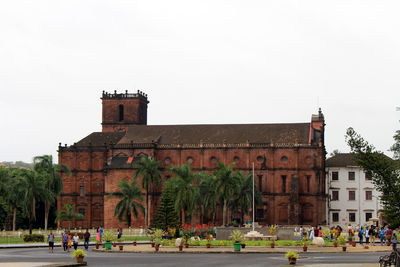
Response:
[[[201,196],[199,206],[202,215],[215,222],[215,213],[217,210],[217,179],[215,176],[206,172],[198,173],[197,177]]]

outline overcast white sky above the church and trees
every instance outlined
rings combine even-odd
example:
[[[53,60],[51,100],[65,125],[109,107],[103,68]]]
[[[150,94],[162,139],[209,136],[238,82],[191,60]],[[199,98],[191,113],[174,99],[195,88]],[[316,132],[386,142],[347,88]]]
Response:
[[[0,161],[101,131],[103,90],[148,94],[149,124],[309,122],[399,129],[399,1],[0,3]],[[390,153],[389,153],[390,155]]]

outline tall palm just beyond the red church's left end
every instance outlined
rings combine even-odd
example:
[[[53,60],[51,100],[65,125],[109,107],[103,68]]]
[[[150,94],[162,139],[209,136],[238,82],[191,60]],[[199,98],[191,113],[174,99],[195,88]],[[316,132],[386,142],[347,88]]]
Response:
[[[63,190],[63,179],[60,172],[67,177],[70,170],[63,164],[53,164],[53,156],[44,155],[33,158],[34,170],[45,181],[46,195],[44,199],[44,229],[47,230],[50,208],[56,203],[57,197]]]

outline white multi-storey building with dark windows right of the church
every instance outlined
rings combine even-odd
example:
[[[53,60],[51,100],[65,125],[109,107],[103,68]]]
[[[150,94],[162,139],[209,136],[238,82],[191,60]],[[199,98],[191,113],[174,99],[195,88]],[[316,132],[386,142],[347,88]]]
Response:
[[[372,176],[356,166],[352,154],[340,153],[326,160],[327,222],[330,225],[365,225],[378,218],[380,193]]]

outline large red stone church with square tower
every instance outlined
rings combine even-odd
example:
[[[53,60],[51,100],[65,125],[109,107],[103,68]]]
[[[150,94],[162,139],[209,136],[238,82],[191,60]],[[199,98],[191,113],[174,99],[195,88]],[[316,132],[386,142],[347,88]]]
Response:
[[[162,162],[163,180],[168,166],[190,162],[194,171],[212,171],[218,161],[235,163],[235,169],[252,170],[263,198],[256,210],[259,224],[325,223],[324,116],[310,122],[276,124],[147,125],[147,95],[107,93],[102,97],[102,131],[70,146],[59,146],[59,163],[71,170],[64,177],[63,203],[85,215],[76,227],[125,227],[114,216],[117,199],[107,193],[118,181],[132,179],[131,157],[151,156]],[[139,181],[141,184],[141,181]],[[161,191],[161,190],[159,190]],[[150,197],[150,218],[159,203]],[[217,220],[222,223],[221,212]],[[232,215],[234,216],[234,215]],[[195,216],[193,223],[199,223]],[[144,226],[144,216],[133,220]]]

